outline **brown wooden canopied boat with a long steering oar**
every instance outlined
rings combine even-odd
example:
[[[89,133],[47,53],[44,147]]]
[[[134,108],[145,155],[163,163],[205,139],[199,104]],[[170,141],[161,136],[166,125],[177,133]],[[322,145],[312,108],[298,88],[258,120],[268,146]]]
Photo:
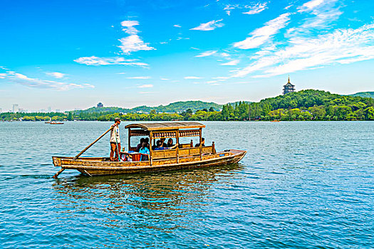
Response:
[[[246,154],[245,150],[227,149],[223,152],[216,152],[214,142],[210,146],[203,147],[201,141],[204,127],[204,124],[198,122],[128,124],[125,127],[128,129],[128,150],[135,151],[136,149],[130,144],[131,137],[149,137],[150,154],[147,155],[149,160],[141,161],[142,157],[137,157],[138,153],[128,152],[121,152],[121,154],[130,155],[133,161],[110,161],[108,157],[79,157],[92,145],[90,144],[76,157],[52,157],[54,166],[61,167],[55,176],[57,177],[64,169],[76,169],[88,176],[135,174],[234,164],[243,159]],[[107,132],[109,131],[110,129]],[[175,149],[152,150],[155,139],[163,137],[174,138],[176,144],[179,145]],[[180,144],[180,137],[199,137],[200,146],[193,147],[192,140],[189,144]]]

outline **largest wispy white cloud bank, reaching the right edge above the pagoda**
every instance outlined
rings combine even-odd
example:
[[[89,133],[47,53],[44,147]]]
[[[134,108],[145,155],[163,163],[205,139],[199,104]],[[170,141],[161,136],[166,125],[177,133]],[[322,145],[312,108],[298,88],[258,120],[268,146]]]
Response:
[[[246,68],[233,71],[233,77],[261,72],[257,77],[281,75],[325,65],[346,64],[374,58],[374,23],[360,28],[337,29],[316,38],[293,38],[289,46],[261,55]]]

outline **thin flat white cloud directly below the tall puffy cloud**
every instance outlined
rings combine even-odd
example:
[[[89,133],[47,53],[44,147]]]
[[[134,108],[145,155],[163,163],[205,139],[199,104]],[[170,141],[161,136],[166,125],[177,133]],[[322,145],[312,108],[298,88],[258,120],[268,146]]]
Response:
[[[125,59],[123,57],[80,57],[74,60],[76,63],[85,65],[137,65],[145,67],[147,63],[140,63],[133,59]]]

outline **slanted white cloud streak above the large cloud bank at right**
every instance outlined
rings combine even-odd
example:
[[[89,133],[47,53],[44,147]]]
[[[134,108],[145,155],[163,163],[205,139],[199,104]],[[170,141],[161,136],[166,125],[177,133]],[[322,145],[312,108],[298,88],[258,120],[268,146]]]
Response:
[[[234,43],[234,47],[241,49],[258,48],[288,24],[289,15],[289,13],[281,14],[277,18],[266,22],[265,26],[252,31],[249,38]]]

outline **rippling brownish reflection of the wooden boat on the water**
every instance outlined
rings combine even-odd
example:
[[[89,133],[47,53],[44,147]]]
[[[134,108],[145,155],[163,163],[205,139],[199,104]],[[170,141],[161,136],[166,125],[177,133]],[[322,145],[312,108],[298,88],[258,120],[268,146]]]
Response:
[[[58,210],[64,216],[80,213],[102,226],[130,229],[155,229],[157,222],[157,230],[167,232],[175,226],[191,226],[180,218],[209,205],[209,198],[214,196],[210,186],[217,181],[229,182],[242,167],[231,164],[153,174],[80,175],[58,179],[53,188],[61,203]],[[101,221],[103,217],[107,218]]]

